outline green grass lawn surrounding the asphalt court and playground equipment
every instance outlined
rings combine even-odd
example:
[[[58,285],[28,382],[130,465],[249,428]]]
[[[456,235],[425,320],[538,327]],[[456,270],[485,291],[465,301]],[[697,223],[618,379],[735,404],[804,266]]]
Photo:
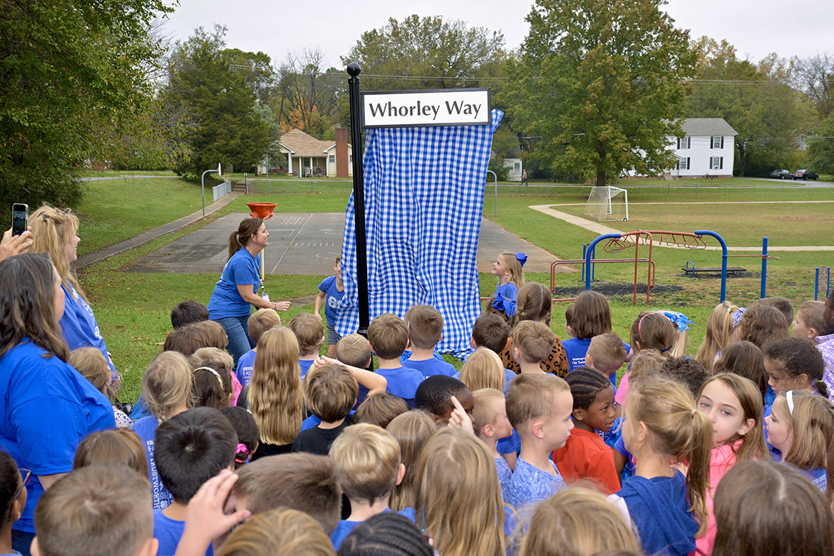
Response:
[[[93,193],[78,208],[84,222],[81,246],[89,247],[102,236],[98,245],[115,243],[136,233],[153,228],[160,223],[192,213],[199,208],[198,189],[179,180],[135,180],[133,188],[125,184],[131,180],[113,180],[91,183]],[[276,180],[277,181],[277,180]],[[163,182],[163,183],[158,183]],[[166,185],[167,184],[167,185]],[[108,348],[113,353],[116,367],[123,373],[123,390],[120,398],[133,401],[138,397],[139,384],[144,368],[159,352],[158,343],[163,342],[170,330],[170,310],[183,299],[195,299],[208,303],[220,269],[212,274],[163,274],[127,273],[127,268],[138,258],[162,247],[186,233],[201,228],[208,221],[226,213],[248,212],[247,201],[278,203],[279,212],[341,212],[344,211],[349,192],[349,183],[319,183],[313,193],[309,185],[301,182],[284,181],[281,193],[259,193],[249,197],[241,196],[206,221],[195,223],[163,238],[158,238],[139,248],[102,263],[94,264],[79,272],[79,278],[86,289]],[[172,191],[173,189],[173,191]],[[565,223],[528,208],[535,204],[579,203],[574,207],[555,207],[569,213],[581,214],[588,195],[585,188],[530,188],[523,195],[507,193],[501,189],[498,217],[493,217],[492,188],[486,188],[485,218],[507,228],[531,243],[554,253],[560,258],[580,258],[583,243],[590,243],[596,233],[585,228]],[[158,203],[164,192],[165,203]],[[133,200],[125,198],[128,193]],[[535,194],[534,194],[535,193]],[[96,200],[93,203],[93,199]],[[829,201],[834,200],[834,189],[806,188],[671,188],[669,193],[662,188],[634,188],[629,185],[631,222],[609,223],[614,228],[631,231],[636,228],[671,228],[692,231],[695,228],[713,229],[721,233],[732,246],[761,244],[761,235],[770,237],[771,246],[815,245],[831,243],[830,234],[819,233],[834,225],[831,205],[824,204],[762,204],[752,201]],[[741,201],[736,205],[686,205],[692,202]],[[672,205],[650,205],[641,203],[669,203]],[[139,206],[141,205],[141,208]],[[178,207],[178,208],[176,208]],[[826,214],[828,211],[828,214]],[[181,212],[181,213],[180,213]],[[831,215],[829,215],[831,214]],[[130,231],[126,231],[128,228]],[[709,240],[716,245],[714,240]],[[641,249],[641,253],[643,250]],[[813,298],[814,267],[829,264],[831,253],[796,252],[776,253],[781,260],[771,260],[768,271],[768,294],[783,295],[795,304]],[[598,250],[598,256],[601,248]],[[620,257],[628,257],[622,253]],[[696,324],[692,325],[689,351],[695,353],[704,334],[704,324],[712,308],[718,303],[719,280],[717,278],[687,278],[680,267],[687,260],[699,266],[720,266],[721,253],[715,251],[682,251],[656,248],[656,279],[659,285],[676,288],[676,291],[652,294],[652,308],[675,308],[686,313]],[[758,258],[730,259],[730,264],[748,269],[741,278],[727,281],[727,298],[741,305],[758,298],[760,278]],[[645,308],[631,304],[631,281],[633,265],[600,265],[596,269],[595,288],[623,284],[620,294],[610,296],[614,318],[614,332],[621,338],[628,338],[627,329],[636,315]],[[641,264],[640,279],[645,283],[645,265]],[[295,314],[311,311],[312,297],[324,276],[268,276],[266,286],[273,299],[294,299],[293,308],[282,313],[284,322]],[[528,281],[550,283],[546,273],[528,273]],[[557,274],[559,288],[580,288],[579,273]],[[495,289],[495,277],[480,274],[482,295],[489,295]],[[565,296],[570,297],[570,296]],[[645,294],[638,295],[638,302],[645,303]],[[564,311],[567,303],[555,303],[551,327],[560,337],[565,337]]]

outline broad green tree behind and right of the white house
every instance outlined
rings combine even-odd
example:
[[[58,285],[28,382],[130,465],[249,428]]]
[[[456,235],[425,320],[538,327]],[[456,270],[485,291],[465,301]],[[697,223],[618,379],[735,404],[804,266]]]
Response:
[[[776,54],[760,63],[741,60],[726,41],[703,37],[695,45],[700,64],[688,118],[724,118],[736,130],[736,171],[756,175],[795,168],[796,138],[811,126],[811,105],[791,88],[793,67]]]

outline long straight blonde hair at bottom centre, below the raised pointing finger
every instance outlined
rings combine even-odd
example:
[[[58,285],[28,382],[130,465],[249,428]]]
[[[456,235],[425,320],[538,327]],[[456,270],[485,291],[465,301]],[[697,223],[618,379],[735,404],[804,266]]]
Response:
[[[495,460],[474,434],[441,428],[426,443],[414,478],[417,527],[440,556],[503,556],[504,501]]]

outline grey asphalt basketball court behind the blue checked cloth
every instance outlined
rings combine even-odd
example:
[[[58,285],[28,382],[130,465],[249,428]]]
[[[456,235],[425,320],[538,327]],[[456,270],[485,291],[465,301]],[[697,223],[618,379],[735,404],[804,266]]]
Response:
[[[219,273],[229,253],[229,234],[248,213],[231,213],[196,232],[168,243],[138,260],[130,272]],[[276,213],[267,221],[269,247],[264,268],[269,274],[327,275],[342,252],[344,213]],[[502,251],[527,254],[526,272],[548,273],[555,256],[483,219],[478,241],[478,271],[489,273]],[[560,272],[571,272],[564,266]]]

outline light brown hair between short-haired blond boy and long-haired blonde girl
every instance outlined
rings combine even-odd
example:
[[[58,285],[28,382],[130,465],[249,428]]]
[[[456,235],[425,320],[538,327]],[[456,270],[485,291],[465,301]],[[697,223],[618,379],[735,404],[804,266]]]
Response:
[[[374,394],[376,395],[376,394]],[[414,475],[417,459],[425,443],[437,431],[435,419],[420,409],[412,409],[397,415],[385,428],[399,443],[399,460],[405,465],[403,480],[394,487],[389,507],[394,512],[414,508]]]

